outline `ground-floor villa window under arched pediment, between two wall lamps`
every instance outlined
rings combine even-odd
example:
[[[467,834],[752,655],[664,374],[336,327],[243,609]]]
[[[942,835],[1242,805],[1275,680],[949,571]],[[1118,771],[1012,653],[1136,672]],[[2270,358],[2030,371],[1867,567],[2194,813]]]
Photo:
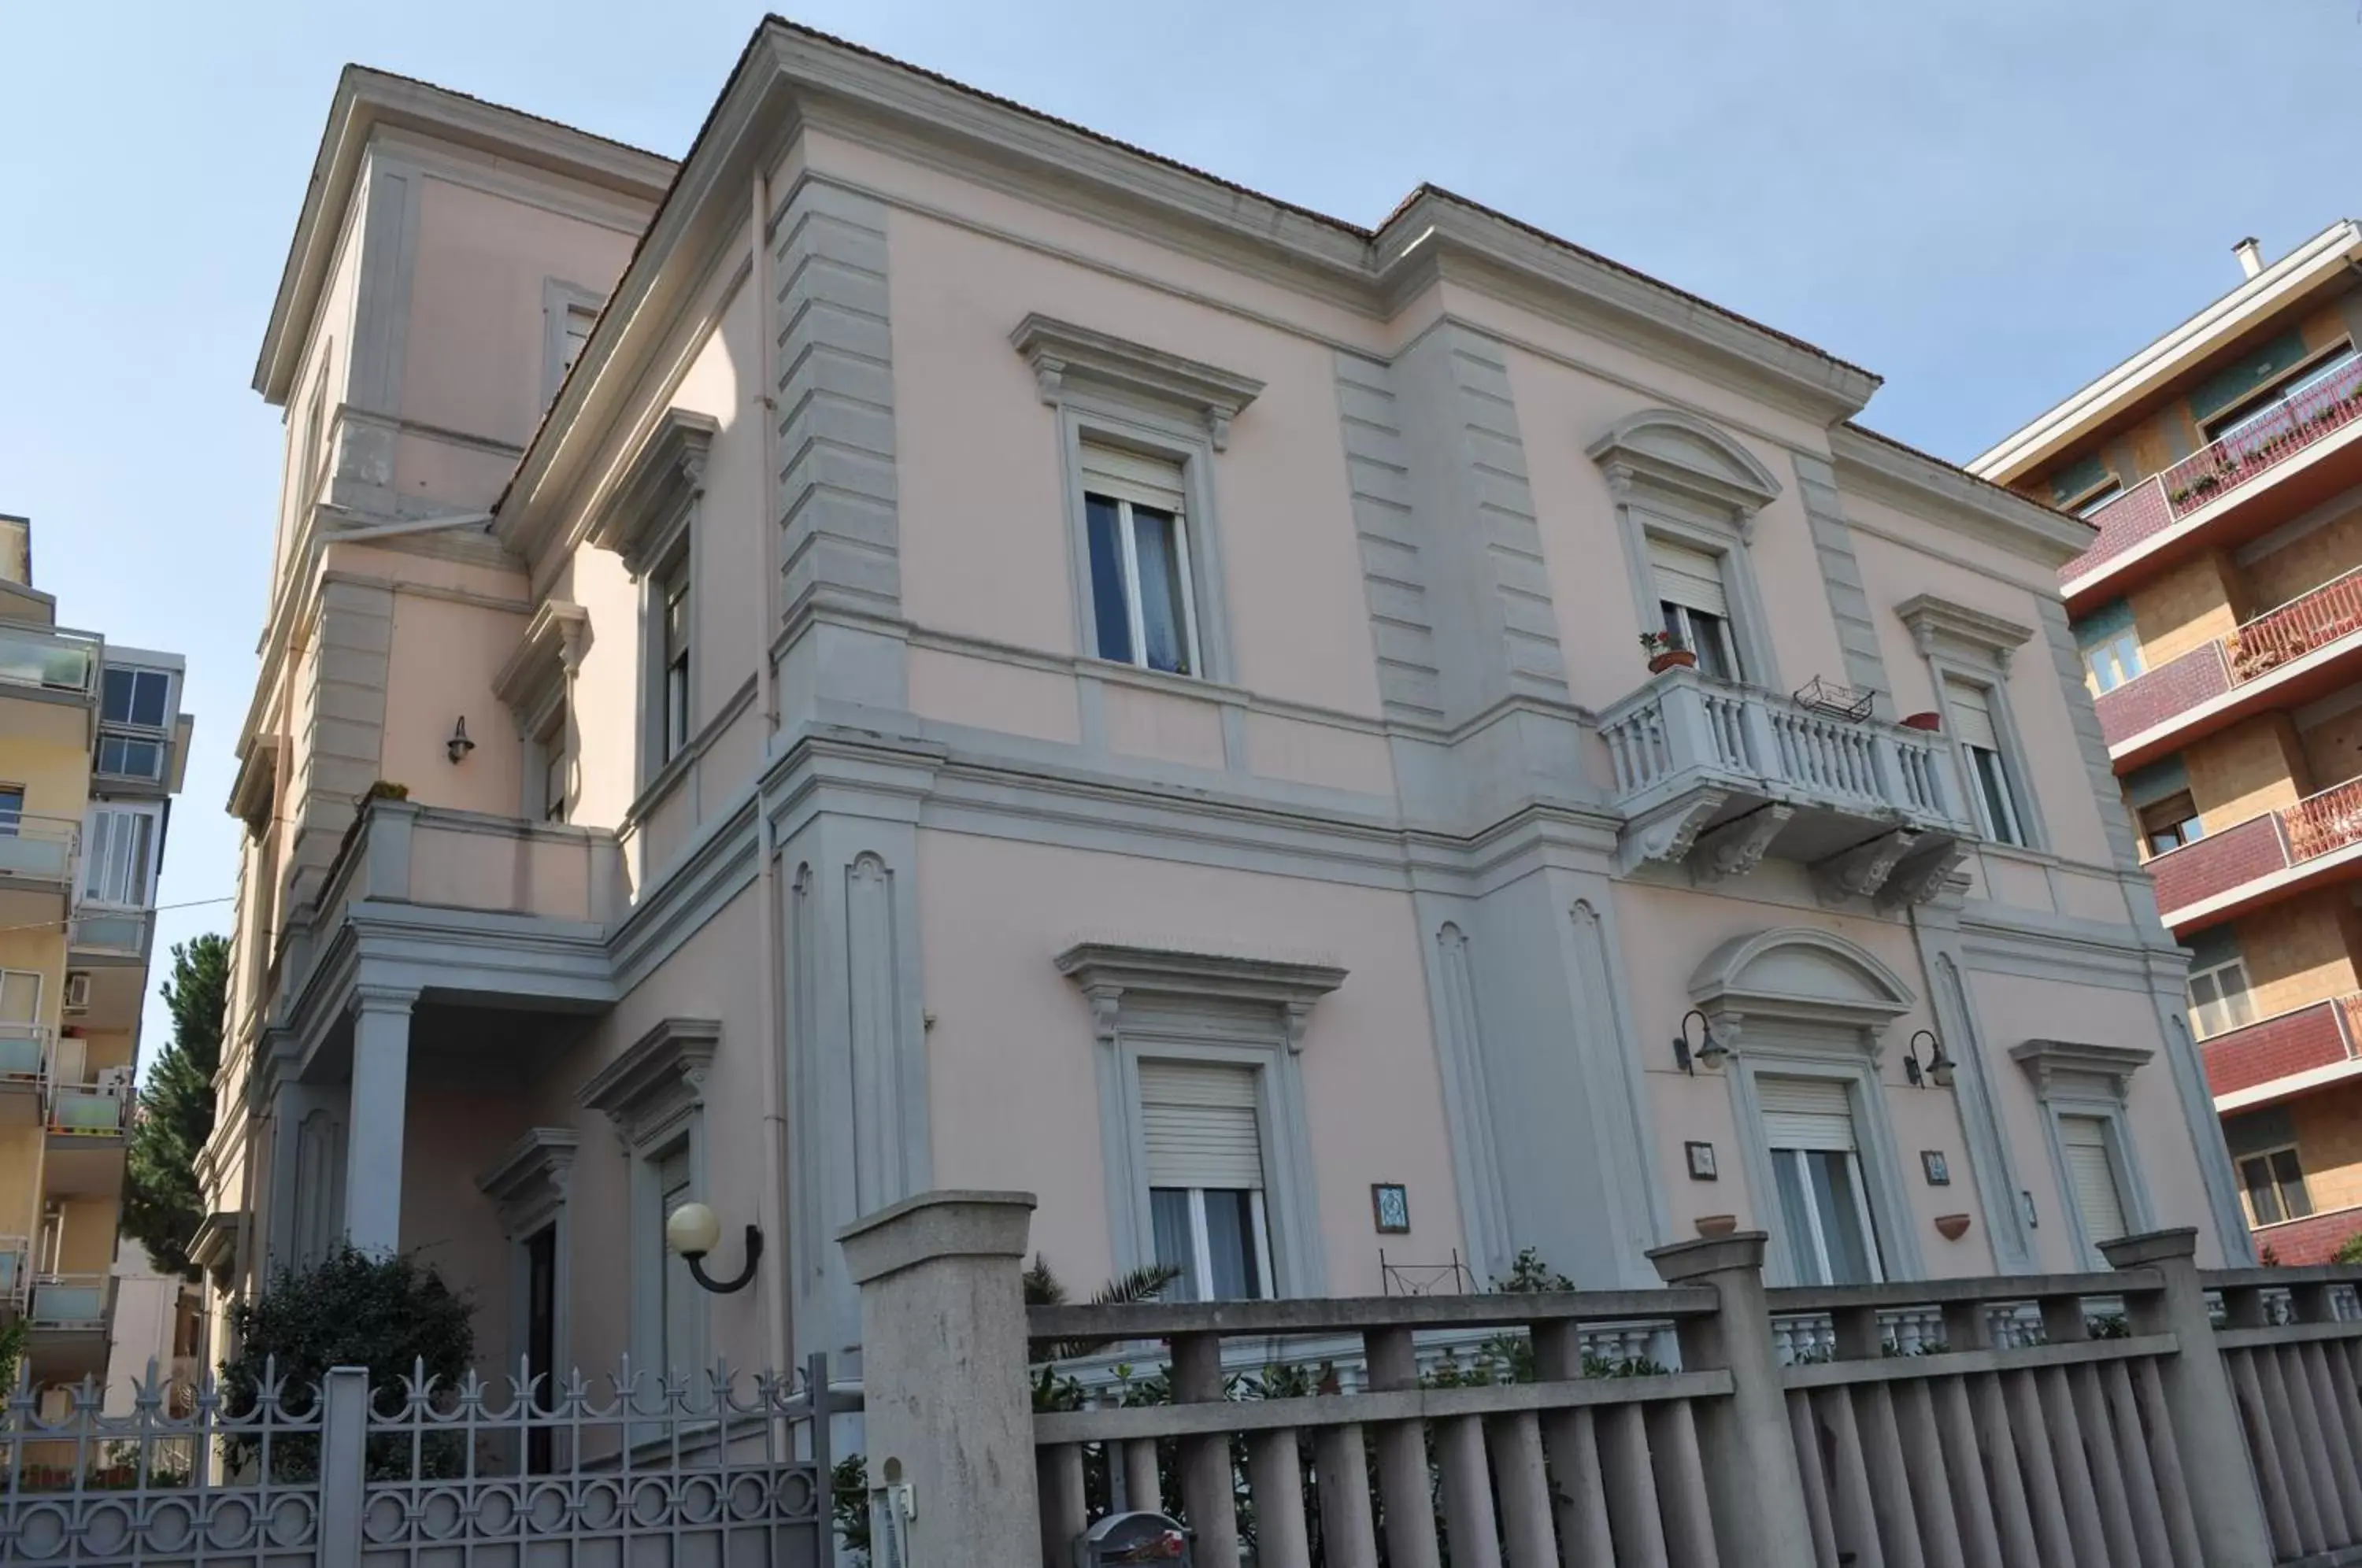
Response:
[[[1755,1096],[1797,1285],[1885,1280],[1845,1082],[1757,1077]]]

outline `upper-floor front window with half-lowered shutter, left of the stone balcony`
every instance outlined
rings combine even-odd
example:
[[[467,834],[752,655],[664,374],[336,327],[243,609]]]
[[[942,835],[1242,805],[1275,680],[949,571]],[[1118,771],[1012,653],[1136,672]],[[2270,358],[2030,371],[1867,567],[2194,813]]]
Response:
[[[1082,510],[1094,652],[1113,664],[1202,675],[1181,463],[1084,442]]]

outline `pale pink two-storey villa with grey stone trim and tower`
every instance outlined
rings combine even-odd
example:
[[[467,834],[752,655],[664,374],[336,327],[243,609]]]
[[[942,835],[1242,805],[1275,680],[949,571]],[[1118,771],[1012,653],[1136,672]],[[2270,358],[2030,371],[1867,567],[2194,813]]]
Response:
[[[765,21],[683,163],[347,71],[255,385],[220,1292],[787,1365],[928,1188],[1200,1299],[2251,1256],[2093,531],[1812,345]]]

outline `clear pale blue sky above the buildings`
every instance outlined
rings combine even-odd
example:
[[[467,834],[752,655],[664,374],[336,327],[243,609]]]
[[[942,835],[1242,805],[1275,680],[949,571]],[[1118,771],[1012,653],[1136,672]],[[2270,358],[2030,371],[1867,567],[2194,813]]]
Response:
[[[1353,222],[1434,179],[1887,378],[1949,458],[2362,210],[2357,0],[829,0],[798,21]],[[279,411],[248,387],[345,61],[680,153],[761,9],[0,2],[0,512],[189,656],[161,897],[234,890]],[[168,912],[165,942],[229,904]],[[161,947],[158,947],[161,952]],[[146,1053],[165,1039],[149,1008]]]

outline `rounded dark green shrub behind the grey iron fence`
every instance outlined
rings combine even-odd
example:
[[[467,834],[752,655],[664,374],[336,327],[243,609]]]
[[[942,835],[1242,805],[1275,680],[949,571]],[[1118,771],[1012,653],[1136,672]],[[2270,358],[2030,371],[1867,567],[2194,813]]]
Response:
[[[229,1325],[241,1348],[236,1360],[222,1363],[222,1403],[239,1417],[253,1415],[272,1377],[288,1415],[307,1417],[331,1367],[368,1367],[373,1405],[394,1415],[409,1398],[404,1379],[420,1367],[449,1389],[475,1360],[475,1304],[413,1256],[376,1256],[350,1242],[312,1268],[283,1270],[257,1301],[234,1304]],[[255,1448],[253,1440],[231,1443],[231,1462],[243,1464]],[[416,1474],[456,1476],[463,1464],[461,1436],[435,1433],[420,1448]],[[317,1438],[274,1436],[272,1471],[276,1478],[317,1474]],[[368,1474],[411,1476],[409,1440],[371,1438]]]

